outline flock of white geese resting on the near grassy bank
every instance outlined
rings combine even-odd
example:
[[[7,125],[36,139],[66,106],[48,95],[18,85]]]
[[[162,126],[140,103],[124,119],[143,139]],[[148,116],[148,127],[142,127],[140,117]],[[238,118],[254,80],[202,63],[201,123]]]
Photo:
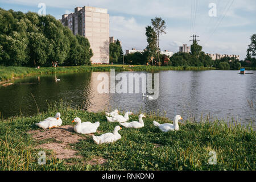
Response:
[[[120,125],[126,127],[126,128],[135,128],[139,129],[144,127],[144,122],[142,118],[146,118],[144,114],[139,115],[139,121],[129,121],[129,115],[133,115],[131,112],[125,113],[125,115],[119,114],[119,111],[116,109],[112,111],[111,113],[105,113],[106,119],[108,122],[119,122]],[[178,121],[181,118],[180,115],[176,115],[174,117],[173,124],[171,123],[164,123],[159,124],[156,121],[153,121],[154,126],[159,127],[160,130],[167,132],[167,131],[174,131],[179,130]],[[75,122],[76,125],[74,127],[74,131],[79,134],[92,134],[96,133],[98,127],[100,126],[100,122],[82,122],[80,118],[75,118],[72,122]],[[49,117],[47,119],[44,119],[44,121],[40,121],[39,123],[36,123],[36,126],[42,128],[42,129],[52,129],[54,127],[59,127],[62,124],[62,120],[60,118],[60,113],[57,113],[55,117]],[[105,133],[100,136],[93,135],[93,140],[97,144],[102,143],[111,143],[115,142],[118,139],[121,139],[121,135],[118,133],[119,130],[121,130],[122,127],[115,126],[113,133]]]

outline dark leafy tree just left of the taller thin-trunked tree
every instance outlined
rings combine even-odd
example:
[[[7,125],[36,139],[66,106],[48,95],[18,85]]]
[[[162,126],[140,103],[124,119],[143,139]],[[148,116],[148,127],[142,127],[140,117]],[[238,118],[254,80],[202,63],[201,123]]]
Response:
[[[151,26],[146,27],[146,36],[147,36],[147,47],[146,50],[148,51],[148,55],[150,57],[155,57],[157,52],[157,42],[158,42],[158,36],[156,35],[156,32],[154,31],[154,28]]]

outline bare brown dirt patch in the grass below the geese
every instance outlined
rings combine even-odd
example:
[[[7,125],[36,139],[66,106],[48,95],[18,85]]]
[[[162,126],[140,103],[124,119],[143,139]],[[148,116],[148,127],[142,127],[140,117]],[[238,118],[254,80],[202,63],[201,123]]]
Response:
[[[82,156],[76,155],[77,151],[72,150],[68,144],[77,143],[81,136],[75,134],[73,126],[60,126],[50,130],[34,130],[28,131],[33,138],[37,140],[54,139],[55,142],[44,143],[36,146],[36,148],[46,148],[53,150],[56,153],[58,159],[69,159],[69,158],[82,158]]]

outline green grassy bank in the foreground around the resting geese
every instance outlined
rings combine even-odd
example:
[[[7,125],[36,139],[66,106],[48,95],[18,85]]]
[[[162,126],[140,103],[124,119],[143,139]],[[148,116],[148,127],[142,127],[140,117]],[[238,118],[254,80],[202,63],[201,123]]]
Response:
[[[142,129],[122,129],[122,138],[115,143],[97,145],[90,135],[69,145],[82,158],[59,160],[47,151],[46,165],[39,166],[38,144],[51,143],[54,139],[41,140],[27,131],[40,130],[35,123],[60,111],[63,125],[72,125],[75,117],[82,121],[100,121],[98,131],[113,132],[118,123],[106,122],[104,113],[89,113],[65,106],[51,106],[47,113],[34,117],[10,118],[0,121],[0,170],[255,170],[255,131],[240,125],[228,126],[224,121],[193,123],[183,121],[179,131],[163,133],[152,121],[171,122],[157,114],[147,115]],[[139,113],[138,113],[139,114]],[[138,114],[130,121],[138,119]],[[53,129],[57,130],[57,129]],[[41,130],[40,130],[41,131]],[[77,134],[72,133],[72,136]],[[217,154],[217,164],[210,165],[209,152]],[[102,158],[104,164],[88,164],[89,160]]]

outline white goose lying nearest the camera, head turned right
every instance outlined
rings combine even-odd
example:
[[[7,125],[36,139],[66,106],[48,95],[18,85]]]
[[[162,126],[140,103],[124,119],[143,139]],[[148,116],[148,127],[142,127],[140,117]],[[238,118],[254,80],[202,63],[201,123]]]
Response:
[[[118,133],[119,130],[122,130],[122,128],[120,126],[115,126],[113,133],[105,133],[100,136],[93,135],[92,137],[97,144],[115,142],[116,140],[121,139],[121,135]]]

